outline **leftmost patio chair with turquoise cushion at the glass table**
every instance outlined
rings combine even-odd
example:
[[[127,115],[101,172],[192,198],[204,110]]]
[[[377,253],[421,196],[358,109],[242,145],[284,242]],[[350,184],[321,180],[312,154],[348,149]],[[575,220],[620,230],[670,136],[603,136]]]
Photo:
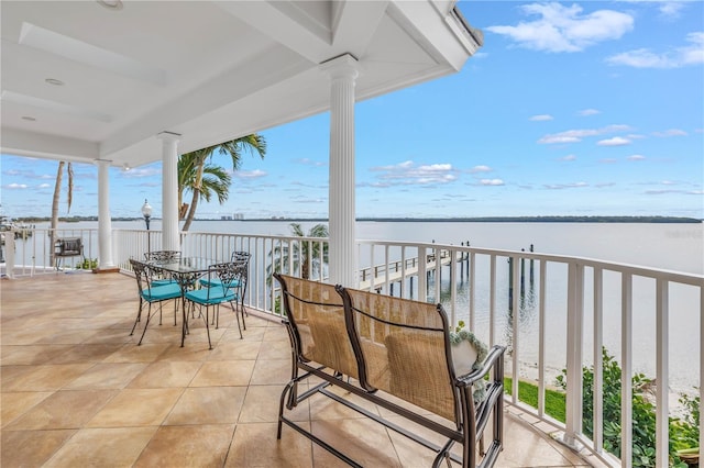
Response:
[[[162,286],[154,285],[152,281],[152,275],[154,274],[154,271],[147,264],[143,261],[134,260],[131,258],[130,265],[132,266],[132,270],[134,271],[138,293],[140,297],[140,308],[138,309],[136,319],[134,320],[134,325],[132,325],[130,335],[134,334],[136,324],[142,321],[142,311],[144,310],[144,305],[147,305],[146,320],[144,323],[144,330],[142,331],[142,336],[140,337],[140,342],[138,343],[139,346],[142,344],[142,339],[144,339],[144,334],[146,333],[146,327],[150,325],[152,316],[156,313],[156,311],[152,313],[152,303],[158,304],[158,324],[161,325],[163,302],[174,299],[174,325],[176,325],[176,309],[178,305],[178,299],[180,299],[182,297],[182,290],[180,286],[178,286],[178,283],[176,282]]]

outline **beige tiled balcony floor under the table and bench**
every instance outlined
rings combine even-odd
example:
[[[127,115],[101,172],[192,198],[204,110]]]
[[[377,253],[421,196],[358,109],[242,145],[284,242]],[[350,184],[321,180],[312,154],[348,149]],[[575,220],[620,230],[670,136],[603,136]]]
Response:
[[[278,322],[250,314],[240,339],[223,309],[212,350],[201,322],[182,348],[167,304],[136,346],[132,277],[56,274],[0,288],[2,467],[343,465],[287,426],[276,439],[290,372]],[[429,450],[337,404],[301,405],[295,417],[364,466],[429,466]],[[507,410],[497,466],[590,464]]]

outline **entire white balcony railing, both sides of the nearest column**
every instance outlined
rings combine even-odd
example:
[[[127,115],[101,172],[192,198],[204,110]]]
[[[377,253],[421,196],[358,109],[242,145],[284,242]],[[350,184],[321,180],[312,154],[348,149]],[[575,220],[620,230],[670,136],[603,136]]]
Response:
[[[97,233],[80,231],[58,234],[81,236],[86,257],[97,256]],[[36,230],[30,237],[20,263],[24,265],[24,252],[31,252],[34,267],[28,268],[36,271],[36,259],[48,256],[48,235]],[[116,231],[113,260],[127,270],[129,258],[143,257],[147,246],[160,249],[160,243],[157,231]],[[272,272],[304,276],[307,269],[309,278],[324,279],[327,245],[327,238],[317,237],[182,234],[184,256],[224,260],[233,250],[250,252],[245,305],[274,315],[282,311]],[[358,241],[358,265],[360,288],[440,302],[452,324],[464,321],[490,345],[506,345],[508,402],[562,431],[566,444],[584,446],[607,465],[629,466],[632,457],[632,375],[654,377],[656,466],[668,466],[668,417],[674,411],[669,397],[673,389],[694,387],[700,398],[703,393],[703,276],[532,252],[382,241]],[[675,325],[684,327],[689,341],[670,339]],[[678,350],[689,345],[693,349]],[[622,368],[620,461],[604,449],[603,348]],[[592,438],[582,432],[583,367],[594,372]],[[546,394],[559,375],[566,379],[564,423],[546,412]],[[519,381],[537,387],[537,408],[521,403]],[[700,443],[702,435],[700,426]]]

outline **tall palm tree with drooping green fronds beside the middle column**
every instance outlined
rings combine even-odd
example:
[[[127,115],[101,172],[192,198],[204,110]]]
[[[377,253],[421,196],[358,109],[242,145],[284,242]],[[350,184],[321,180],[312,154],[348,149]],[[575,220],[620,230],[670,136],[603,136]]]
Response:
[[[238,170],[242,165],[242,152],[248,152],[252,155],[258,154],[258,156],[264,159],[264,155],[266,154],[266,141],[263,136],[257,135],[255,133],[246,136],[242,136],[240,138],[232,140],[230,142],[220,143],[219,145],[209,146],[207,148],[198,149],[196,152],[187,153],[182,155],[180,159],[185,158],[183,163],[183,167],[179,159],[179,176],[178,176],[178,211],[182,215],[182,219],[185,219],[183,231],[188,231],[190,227],[190,223],[196,216],[196,209],[198,208],[198,201],[202,198],[206,201],[209,200],[206,197],[205,191],[205,174],[206,174],[206,161],[212,158],[213,154],[229,155],[232,159],[232,170]],[[212,168],[218,166],[211,166]],[[182,177],[180,169],[183,168],[184,175]],[[224,170],[224,169],[223,169]],[[182,181],[184,185],[182,186]],[[228,188],[230,183],[228,182]],[[193,192],[193,199],[190,205],[184,205],[183,202],[183,191],[189,188]],[[227,200],[218,197],[220,203]]]

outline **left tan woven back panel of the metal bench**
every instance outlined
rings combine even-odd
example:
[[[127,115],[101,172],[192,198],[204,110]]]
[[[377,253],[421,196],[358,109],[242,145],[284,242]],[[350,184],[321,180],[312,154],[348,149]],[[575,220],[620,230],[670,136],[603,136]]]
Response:
[[[332,285],[274,274],[299,360],[314,361],[358,378],[348,339],[342,299]]]

